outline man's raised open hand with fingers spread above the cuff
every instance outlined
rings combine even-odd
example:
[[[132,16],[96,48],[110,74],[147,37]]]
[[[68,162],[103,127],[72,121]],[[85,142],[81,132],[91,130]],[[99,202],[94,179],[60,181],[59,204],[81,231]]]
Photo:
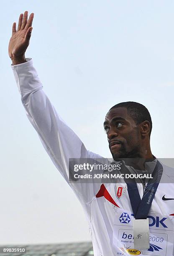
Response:
[[[34,13],[31,13],[28,19],[28,11],[25,11],[24,15],[20,14],[18,21],[18,30],[16,31],[16,23],[13,23],[12,36],[10,38],[8,46],[8,54],[12,59],[14,56],[23,56],[29,45],[32,22]]]

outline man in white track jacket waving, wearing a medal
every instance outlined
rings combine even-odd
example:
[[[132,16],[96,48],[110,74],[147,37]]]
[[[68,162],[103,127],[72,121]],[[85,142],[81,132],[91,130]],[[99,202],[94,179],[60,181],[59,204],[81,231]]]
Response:
[[[9,43],[12,69],[28,119],[56,168],[72,187],[84,208],[94,255],[174,255],[174,184],[171,184],[173,170],[162,166],[151,153],[152,122],[148,110],[136,102],[122,102],[109,110],[104,128],[115,161],[124,158],[125,169],[129,172],[137,173],[138,169],[143,169],[157,179],[160,177],[160,183],[147,183],[145,180],[142,181],[143,184],[137,183],[135,186],[127,184],[124,179],[105,184],[70,183],[70,158],[98,161],[102,157],[88,151],[59,117],[43,91],[32,60],[25,58],[32,21],[33,13],[28,19],[26,11],[19,17],[17,30],[13,23]],[[126,165],[126,159],[131,158],[138,161]],[[110,162],[103,159],[103,163]],[[167,189],[164,180],[170,183]]]

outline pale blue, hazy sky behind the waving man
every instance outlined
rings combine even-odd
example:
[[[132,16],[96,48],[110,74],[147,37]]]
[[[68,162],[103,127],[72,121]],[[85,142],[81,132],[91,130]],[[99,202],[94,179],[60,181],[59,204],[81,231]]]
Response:
[[[25,10],[35,13],[26,57],[86,148],[111,157],[105,114],[130,100],[151,113],[152,153],[173,158],[174,2],[1,3],[0,244],[88,241],[82,207],[29,123],[10,67],[11,27]]]

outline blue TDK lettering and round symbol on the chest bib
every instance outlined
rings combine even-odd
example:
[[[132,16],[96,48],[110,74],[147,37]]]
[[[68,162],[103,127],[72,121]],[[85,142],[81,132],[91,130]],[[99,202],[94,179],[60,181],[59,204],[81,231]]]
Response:
[[[134,217],[133,214],[131,214],[131,216]],[[166,224],[164,223],[164,221],[167,219],[167,218],[159,218],[159,216],[147,216],[147,218],[149,219],[149,227],[153,227],[155,226],[156,228],[159,228],[161,225],[164,227],[164,228],[168,228],[166,226]],[[130,222],[130,217],[128,215],[127,212],[123,212],[122,215],[120,215],[120,223],[129,223]]]

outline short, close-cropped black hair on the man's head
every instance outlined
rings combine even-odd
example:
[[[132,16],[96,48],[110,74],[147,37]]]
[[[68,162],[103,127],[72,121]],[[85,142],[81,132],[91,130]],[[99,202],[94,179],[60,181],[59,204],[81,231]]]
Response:
[[[110,108],[110,110],[113,108],[127,108],[130,117],[133,118],[133,120],[136,122],[137,125],[142,123],[143,121],[148,121],[151,125],[149,137],[151,136],[151,131],[152,131],[151,115],[148,112],[148,109],[144,105],[138,102],[127,101],[127,102],[120,102],[114,105],[112,108]]]

